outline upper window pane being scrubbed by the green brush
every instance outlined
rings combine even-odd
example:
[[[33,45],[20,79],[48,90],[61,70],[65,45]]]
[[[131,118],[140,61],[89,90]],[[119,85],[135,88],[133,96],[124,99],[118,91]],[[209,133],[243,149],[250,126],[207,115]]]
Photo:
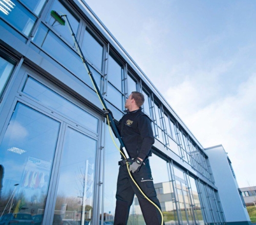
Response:
[[[70,29],[68,28],[68,22],[66,21],[67,18],[63,16],[62,18],[66,21],[65,26],[62,26],[57,22],[52,16],[51,11],[56,11],[59,15],[67,15],[70,26],[74,32],[75,35],[77,35],[79,21],[62,5],[59,1],[54,1],[48,16],[46,17],[46,21],[63,37],[65,38],[69,43],[72,45],[75,45],[73,37],[70,33]]]

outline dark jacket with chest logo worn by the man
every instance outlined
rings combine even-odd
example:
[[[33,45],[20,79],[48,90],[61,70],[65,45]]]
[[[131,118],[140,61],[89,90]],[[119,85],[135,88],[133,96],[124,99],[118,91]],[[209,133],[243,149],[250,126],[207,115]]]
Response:
[[[151,120],[141,108],[127,112],[117,124],[126,151],[131,158],[145,159],[151,156],[151,147],[155,142]]]

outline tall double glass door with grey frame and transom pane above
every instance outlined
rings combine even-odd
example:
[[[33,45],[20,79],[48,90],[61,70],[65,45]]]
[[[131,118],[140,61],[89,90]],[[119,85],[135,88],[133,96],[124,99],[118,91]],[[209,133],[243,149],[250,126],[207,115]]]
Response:
[[[6,101],[12,106],[0,115],[1,222],[88,224],[96,212],[99,118],[51,83],[19,74]]]

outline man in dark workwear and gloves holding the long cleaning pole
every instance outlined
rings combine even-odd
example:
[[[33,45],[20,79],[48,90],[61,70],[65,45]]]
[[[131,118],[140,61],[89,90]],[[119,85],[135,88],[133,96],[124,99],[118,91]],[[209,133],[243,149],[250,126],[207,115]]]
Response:
[[[129,170],[134,180],[144,194],[151,199],[160,209],[160,203],[155,191],[148,157],[152,156],[151,147],[154,144],[154,135],[151,120],[142,111],[144,96],[140,92],[133,91],[126,100],[126,114],[116,124],[124,142],[127,153],[130,155]],[[104,114],[109,111],[105,110]],[[125,160],[119,162],[117,179],[116,210],[114,225],[126,225],[130,207],[136,194],[140,208],[147,225],[161,224],[159,210],[149,202],[138,187],[132,181]]]

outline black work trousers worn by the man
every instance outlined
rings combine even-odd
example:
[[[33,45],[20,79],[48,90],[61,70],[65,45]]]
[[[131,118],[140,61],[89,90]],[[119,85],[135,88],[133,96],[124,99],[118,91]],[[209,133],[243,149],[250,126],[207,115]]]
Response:
[[[144,163],[139,172],[132,173],[133,178],[145,195],[160,208],[148,159],[144,160]],[[138,198],[146,225],[160,225],[162,219],[159,210],[139,191],[138,187],[132,181],[126,165],[119,167],[114,225],[127,224],[130,207],[135,194]]]

